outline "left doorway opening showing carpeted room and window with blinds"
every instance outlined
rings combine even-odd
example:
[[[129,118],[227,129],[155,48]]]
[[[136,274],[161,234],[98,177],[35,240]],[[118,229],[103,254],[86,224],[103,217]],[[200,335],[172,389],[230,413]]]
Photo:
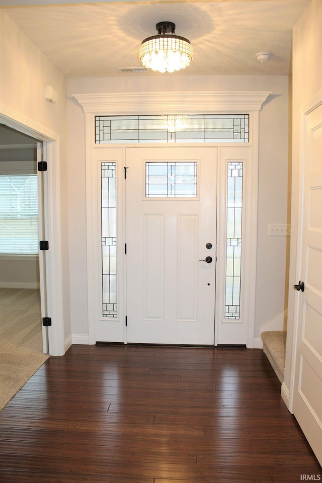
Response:
[[[43,190],[37,145],[37,139],[0,125],[0,408],[48,358],[41,318],[46,293],[40,284]]]

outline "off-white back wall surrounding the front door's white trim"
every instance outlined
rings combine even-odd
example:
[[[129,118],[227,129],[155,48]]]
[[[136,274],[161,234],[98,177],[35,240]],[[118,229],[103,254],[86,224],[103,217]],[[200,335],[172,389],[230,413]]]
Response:
[[[117,78],[68,80],[68,190],[70,316],[72,334],[88,334],[85,118],[71,98],[79,93],[153,91],[272,91],[260,113],[259,228],[255,338],[265,328],[282,329],[285,310],[286,237],[269,237],[268,224],[287,222],[288,77],[173,76],[132,74]],[[85,340],[85,339],[84,339]]]

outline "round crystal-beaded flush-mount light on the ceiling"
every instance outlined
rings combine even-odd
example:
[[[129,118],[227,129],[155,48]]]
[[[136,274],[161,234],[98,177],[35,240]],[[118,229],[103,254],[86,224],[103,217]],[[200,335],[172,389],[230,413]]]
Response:
[[[174,72],[188,67],[192,61],[189,40],[175,35],[176,25],[173,22],[159,22],[155,28],[157,35],[141,43],[139,56],[144,67],[159,72]]]

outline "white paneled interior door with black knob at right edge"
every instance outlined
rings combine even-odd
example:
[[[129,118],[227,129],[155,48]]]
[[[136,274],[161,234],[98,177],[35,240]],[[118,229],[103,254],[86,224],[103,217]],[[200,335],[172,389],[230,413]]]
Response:
[[[322,463],[322,105],[306,116],[304,141],[293,412]]]

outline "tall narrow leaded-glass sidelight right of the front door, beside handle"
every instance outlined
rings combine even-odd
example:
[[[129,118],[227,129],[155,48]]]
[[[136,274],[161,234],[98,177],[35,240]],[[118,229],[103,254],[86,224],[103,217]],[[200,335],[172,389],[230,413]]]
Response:
[[[225,319],[239,319],[243,162],[227,163],[227,246]]]

